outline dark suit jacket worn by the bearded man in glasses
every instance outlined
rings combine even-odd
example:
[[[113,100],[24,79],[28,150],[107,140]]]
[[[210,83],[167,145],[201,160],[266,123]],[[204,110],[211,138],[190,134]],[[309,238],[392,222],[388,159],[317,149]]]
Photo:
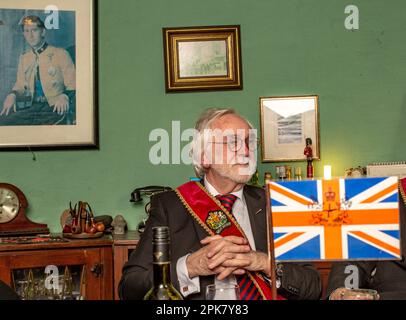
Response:
[[[265,192],[263,189],[245,186],[244,197],[247,203],[252,232],[257,251],[267,252],[267,224]],[[174,191],[157,194],[151,200],[151,214],[137,249],[132,253],[123,268],[119,284],[121,299],[142,299],[152,287],[152,227],[169,226],[171,237],[171,277],[173,285],[179,289],[176,274],[177,260],[199,250],[200,240],[207,233],[186,211]],[[279,291],[289,299],[318,299],[321,293],[321,280],[318,271],[311,264],[284,264],[284,276]],[[200,277],[200,293],[189,295],[188,299],[204,299],[207,285],[214,282],[214,276]]]

